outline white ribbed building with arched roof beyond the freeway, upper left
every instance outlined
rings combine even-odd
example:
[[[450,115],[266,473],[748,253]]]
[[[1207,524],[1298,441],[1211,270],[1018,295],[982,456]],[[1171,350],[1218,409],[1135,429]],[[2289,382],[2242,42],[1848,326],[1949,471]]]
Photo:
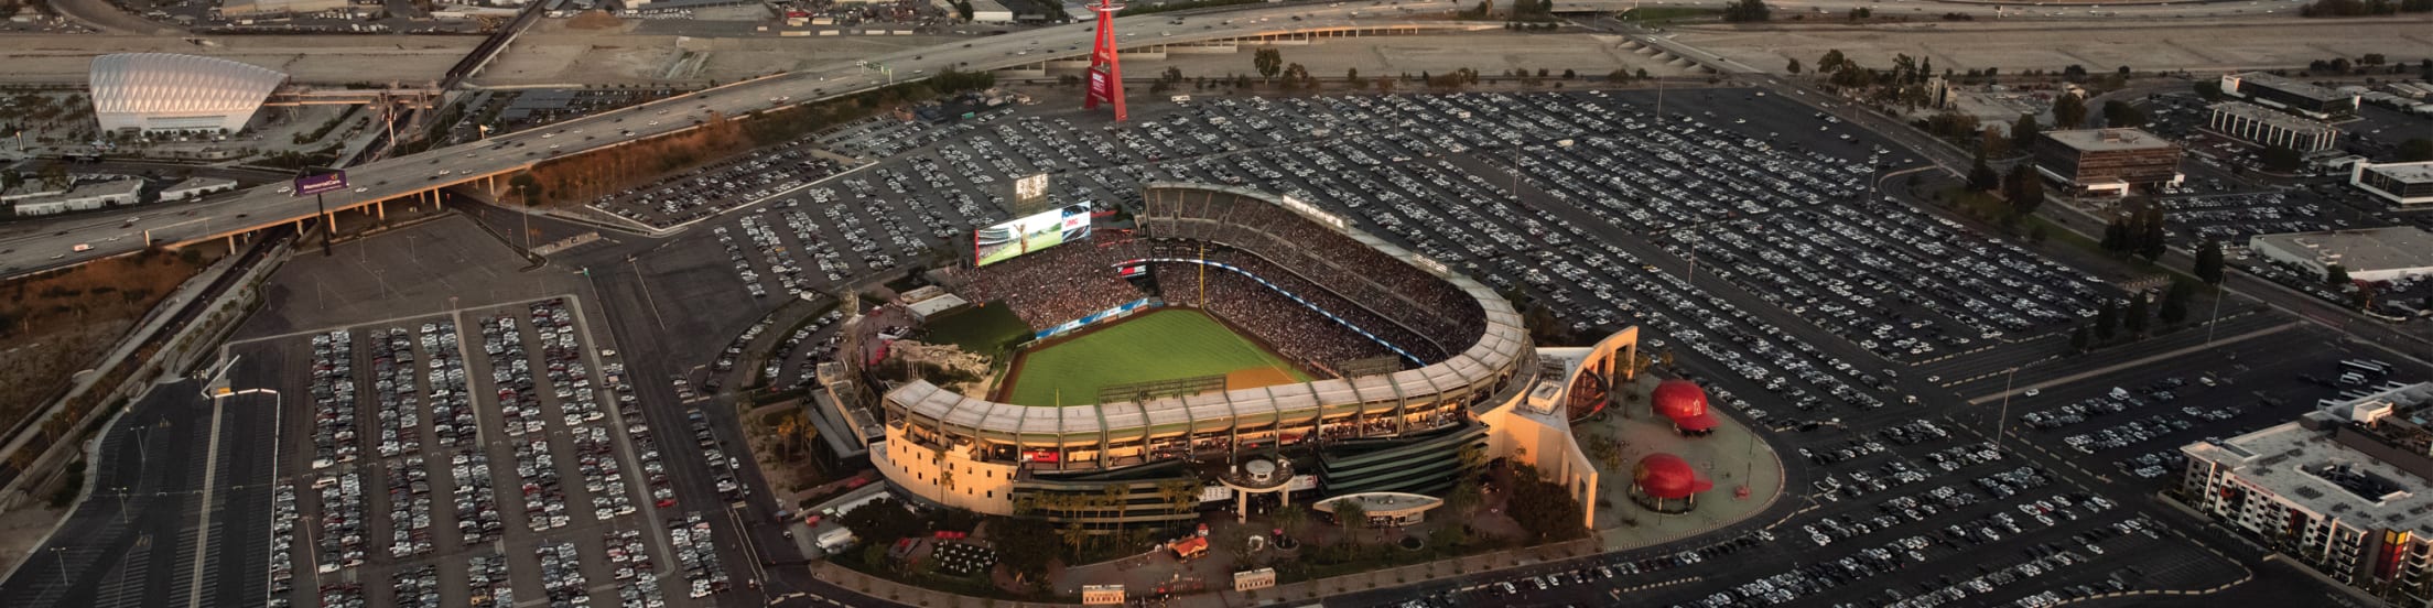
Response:
[[[234,134],[287,73],[209,56],[109,54],[92,58],[88,80],[105,131]]]

